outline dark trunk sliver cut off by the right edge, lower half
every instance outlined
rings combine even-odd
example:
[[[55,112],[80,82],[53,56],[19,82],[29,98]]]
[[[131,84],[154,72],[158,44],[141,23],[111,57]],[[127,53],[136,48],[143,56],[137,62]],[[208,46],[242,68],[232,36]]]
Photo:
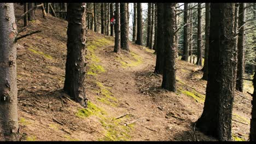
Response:
[[[252,118],[251,118],[251,128],[250,128],[250,141],[256,141],[256,73],[253,77],[253,100],[252,100]]]

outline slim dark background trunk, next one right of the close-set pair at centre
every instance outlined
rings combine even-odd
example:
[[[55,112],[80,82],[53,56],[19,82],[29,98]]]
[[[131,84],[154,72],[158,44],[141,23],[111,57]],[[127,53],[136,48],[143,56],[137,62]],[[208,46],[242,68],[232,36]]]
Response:
[[[137,3],[137,38],[135,44],[143,45],[142,35],[142,9],[141,3]]]

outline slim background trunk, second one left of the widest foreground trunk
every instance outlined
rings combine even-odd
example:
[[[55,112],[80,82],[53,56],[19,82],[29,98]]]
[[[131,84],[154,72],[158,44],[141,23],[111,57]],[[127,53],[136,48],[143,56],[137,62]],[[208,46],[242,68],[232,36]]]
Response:
[[[197,60],[196,64],[202,66],[202,9],[201,3],[197,8]]]

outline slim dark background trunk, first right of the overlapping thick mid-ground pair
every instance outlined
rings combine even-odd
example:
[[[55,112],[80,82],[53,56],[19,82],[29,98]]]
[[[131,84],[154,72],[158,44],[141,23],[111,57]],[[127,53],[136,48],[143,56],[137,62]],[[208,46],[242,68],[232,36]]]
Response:
[[[183,34],[183,56],[182,60],[188,62],[188,54],[189,54],[189,47],[188,47],[188,3],[184,3],[184,34]]]

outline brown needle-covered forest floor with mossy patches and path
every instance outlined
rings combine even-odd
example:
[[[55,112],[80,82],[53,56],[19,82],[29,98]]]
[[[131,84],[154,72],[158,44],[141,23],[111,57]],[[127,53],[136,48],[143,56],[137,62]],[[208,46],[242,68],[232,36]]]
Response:
[[[15,15],[22,14],[15,5]],[[113,52],[114,38],[87,34],[88,71],[84,109],[63,93],[67,21],[37,20],[24,32],[42,32],[18,44],[18,100],[21,141],[216,141],[194,129],[201,116],[206,81],[195,64],[177,59],[177,92],[161,89],[153,73],[153,50],[130,43]],[[19,21],[18,28],[22,27]],[[236,92],[232,138],[248,140],[251,95]]]

